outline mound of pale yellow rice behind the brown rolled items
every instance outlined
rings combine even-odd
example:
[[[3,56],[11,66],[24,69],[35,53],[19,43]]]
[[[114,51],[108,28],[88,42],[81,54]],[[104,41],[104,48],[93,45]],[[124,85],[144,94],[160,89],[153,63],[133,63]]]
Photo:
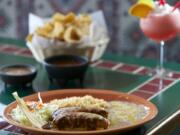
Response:
[[[95,108],[108,108],[109,104],[103,99],[94,98],[86,95],[83,97],[67,97],[63,99],[55,99],[50,104],[58,105],[59,107],[95,107]]]

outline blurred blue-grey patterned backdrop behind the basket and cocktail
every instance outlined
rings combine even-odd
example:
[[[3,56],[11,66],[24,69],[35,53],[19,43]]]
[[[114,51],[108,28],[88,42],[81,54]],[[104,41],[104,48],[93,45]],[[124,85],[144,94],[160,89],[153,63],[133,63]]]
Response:
[[[179,0],[167,0],[175,4]],[[139,20],[128,14],[136,0],[0,0],[0,37],[24,40],[28,34],[28,14],[49,17],[55,12],[75,13],[103,10],[109,35],[107,52],[145,58],[159,57],[159,46],[148,40]],[[180,37],[166,42],[165,59],[180,62]]]

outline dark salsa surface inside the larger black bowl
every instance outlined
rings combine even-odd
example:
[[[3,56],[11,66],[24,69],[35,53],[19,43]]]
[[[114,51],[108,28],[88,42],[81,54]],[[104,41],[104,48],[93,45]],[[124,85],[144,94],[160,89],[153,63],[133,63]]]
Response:
[[[79,65],[82,62],[76,59],[66,59],[66,60],[54,60],[50,62],[50,64],[58,65],[58,66],[72,66],[72,65]]]

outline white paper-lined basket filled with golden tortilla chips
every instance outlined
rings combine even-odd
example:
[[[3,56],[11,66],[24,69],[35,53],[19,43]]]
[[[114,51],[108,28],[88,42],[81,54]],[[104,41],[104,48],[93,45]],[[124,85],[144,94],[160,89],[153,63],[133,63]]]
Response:
[[[27,46],[39,62],[59,54],[86,56],[95,61],[109,42],[101,11],[79,15],[56,13],[50,19],[30,14],[29,33]]]

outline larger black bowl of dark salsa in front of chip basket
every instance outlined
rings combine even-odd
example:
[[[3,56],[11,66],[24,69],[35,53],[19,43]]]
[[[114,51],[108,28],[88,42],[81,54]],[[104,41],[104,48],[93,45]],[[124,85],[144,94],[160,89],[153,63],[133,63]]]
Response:
[[[83,81],[88,64],[87,58],[75,55],[58,55],[44,60],[50,80],[80,79]]]

